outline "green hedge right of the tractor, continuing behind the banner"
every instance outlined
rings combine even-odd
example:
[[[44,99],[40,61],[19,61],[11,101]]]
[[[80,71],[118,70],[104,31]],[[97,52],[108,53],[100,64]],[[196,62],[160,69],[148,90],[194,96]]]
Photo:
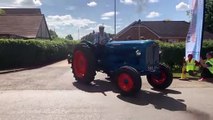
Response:
[[[161,62],[168,64],[173,69],[180,70],[185,56],[185,42],[171,44],[158,41],[158,43],[162,50]],[[213,51],[213,40],[203,42],[201,56],[205,57],[205,54],[209,51]]]

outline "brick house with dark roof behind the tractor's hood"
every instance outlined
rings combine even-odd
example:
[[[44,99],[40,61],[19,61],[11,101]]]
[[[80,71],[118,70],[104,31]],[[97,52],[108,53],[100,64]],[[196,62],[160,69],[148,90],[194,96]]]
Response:
[[[116,35],[116,40],[152,39],[164,42],[185,41],[190,24],[185,21],[135,21]],[[204,39],[213,34],[204,32]]]

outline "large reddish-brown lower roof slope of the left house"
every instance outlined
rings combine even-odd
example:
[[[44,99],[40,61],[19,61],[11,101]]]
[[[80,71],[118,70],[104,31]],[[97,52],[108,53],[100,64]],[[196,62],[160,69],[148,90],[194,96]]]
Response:
[[[0,34],[36,38],[44,16],[0,16]]]

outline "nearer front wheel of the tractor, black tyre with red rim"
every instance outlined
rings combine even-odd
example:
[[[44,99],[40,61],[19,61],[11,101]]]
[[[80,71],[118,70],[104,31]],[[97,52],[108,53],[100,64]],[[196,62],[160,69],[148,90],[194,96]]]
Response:
[[[120,94],[123,96],[133,96],[141,89],[141,77],[137,70],[130,66],[123,66],[113,75]]]

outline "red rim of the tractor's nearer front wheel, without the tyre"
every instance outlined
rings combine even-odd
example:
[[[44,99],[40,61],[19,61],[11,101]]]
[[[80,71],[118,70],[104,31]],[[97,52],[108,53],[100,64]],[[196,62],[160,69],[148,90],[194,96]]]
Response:
[[[118,76],[118,85],[121,88],[121,90],[128,92],[134,86],[133,79],[129,74],[122,73]]]

